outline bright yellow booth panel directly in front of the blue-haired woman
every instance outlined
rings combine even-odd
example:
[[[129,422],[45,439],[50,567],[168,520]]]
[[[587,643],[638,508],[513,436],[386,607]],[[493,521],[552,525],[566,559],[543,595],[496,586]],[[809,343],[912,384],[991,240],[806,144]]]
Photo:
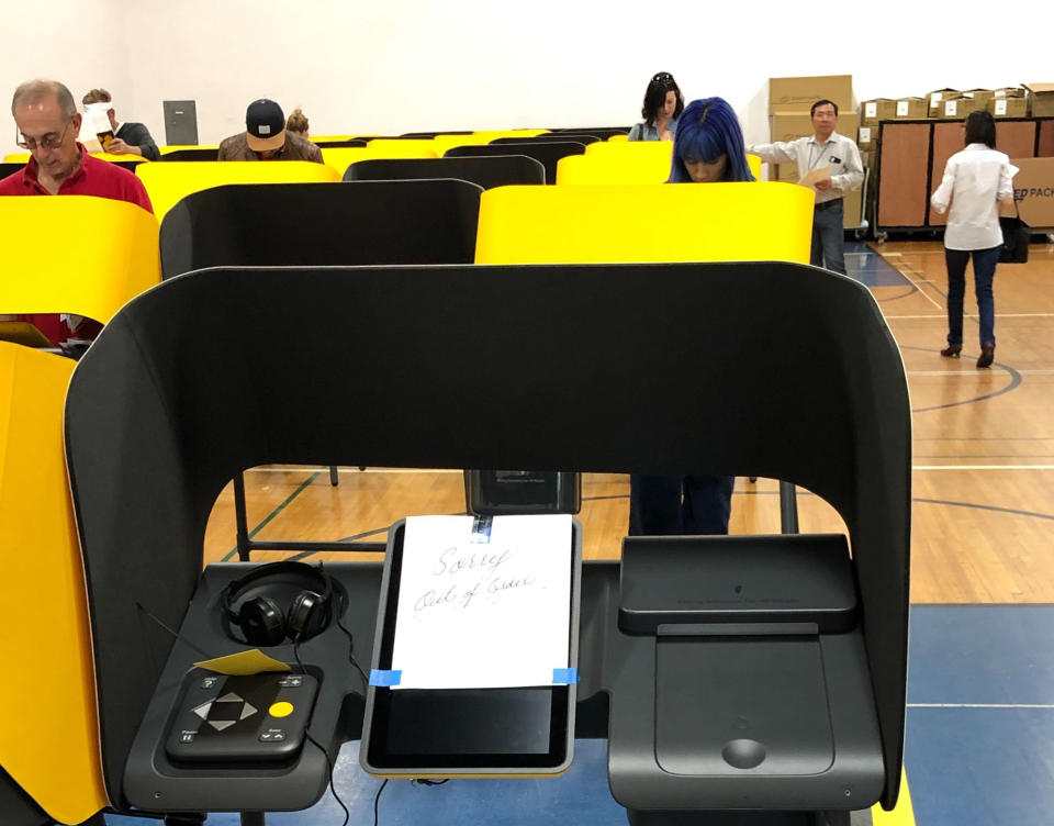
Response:
[[[809,261],[812,191],[793,183],[497,187],[476,264]]]

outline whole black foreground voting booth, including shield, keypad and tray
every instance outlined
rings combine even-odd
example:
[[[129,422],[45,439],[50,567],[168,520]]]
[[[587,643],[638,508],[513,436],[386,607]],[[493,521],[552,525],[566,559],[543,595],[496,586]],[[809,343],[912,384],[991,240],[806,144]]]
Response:
[[[334,341],[347,308],[360,321]],[[235,315],[301,335],[246,342]],[[685,381],[700,347],[706,380]],[[332,364],[356,381],[333,381]],[[362,387],[369,404],[356,403]],[[391,596],[407,552],[399,526],[383,566],[273,580],[237,563],[202,571],[216,495],[272,462],[711,472],[808,488],[848,535],[649,538],[627,542],[621,561],[582,563],[576,656],[567,640],[575,671],[559,674],[573,710],[556,673],[548,705],[530,706],[540,694],[496,704],[495,718],[548,724],[517,751],[543,764],[504,769],[559,772],[569,755],[552,735],[573,730],[607,738],[610,790],[631,823],[837,824],[896,803],[910,413],[896,344],[855,281],[781,263],[215,268],[117,313],[74,373],[65,421],[117,807],[306,807],[325,790],[326,757],[383,725],[383,672],[407,674],[384,650],[393,604],[405,617]],[[274,682],[227,692],[236,676],[225,674],[214,696],[213,673],[194,663],[254,648],[278,663],[253,655]],[[520,703],[532,713],[509,713]],[[389,748],[365,744],[371,770],[495,773],[495,751],[478,744],[444,738],[445,766],[429,766],[419,740],[399,748],[406,721],[431,717],[389,712]],[[183,732],[201,730],[180,723],[193,715],[211,739],[255,726],[253,754],[266,747],[268,761],[180,759]],[[284,739],[261,740],[271,729]]]

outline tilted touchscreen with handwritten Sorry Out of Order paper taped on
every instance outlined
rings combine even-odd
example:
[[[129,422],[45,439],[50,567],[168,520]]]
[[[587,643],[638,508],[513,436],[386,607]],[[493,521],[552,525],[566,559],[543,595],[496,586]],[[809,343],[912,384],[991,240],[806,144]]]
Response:
[[[571,764],[582,526],[416,516],[389,532],[359,756],[381,777]]]

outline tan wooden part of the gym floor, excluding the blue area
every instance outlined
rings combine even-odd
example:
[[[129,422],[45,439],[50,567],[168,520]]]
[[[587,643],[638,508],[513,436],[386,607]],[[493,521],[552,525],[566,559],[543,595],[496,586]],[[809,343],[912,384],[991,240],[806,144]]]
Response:
[[[969,292],[963,357],[938,354],[946,333],[942,246],[890,242],[873,249],[899,274],[871,290],[900,345],[911,390],[912,601],[1054,603],[1054,244],[1033,244],[1028,264],[999,266],[989,370],[974,367],[977,322]],[[388,525],[403,516],[464,512],[460,471],[341,468],[339,478],[333,488],[324,468],[248,472],[250,532],[271,540],[367,535],[383,542]],[[628,494],[625,476],[584,477],[579,518],[586,558],[618,556]],[[799,490],[798,510],[803,532],[844,532],[833,509],[808,491]],[[737,479],[730,529],[778,532],[774,481]],[[234,548],[228,485],[209,523],[205,560],[232,558]]]

